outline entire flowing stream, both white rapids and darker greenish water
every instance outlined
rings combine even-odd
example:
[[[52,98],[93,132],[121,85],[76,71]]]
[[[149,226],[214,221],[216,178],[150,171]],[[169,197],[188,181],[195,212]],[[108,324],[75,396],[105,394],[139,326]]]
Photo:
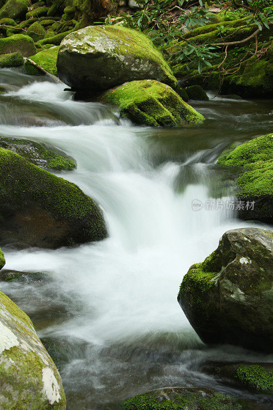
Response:
[[[225,231],[265,226],[205,204],[235,200],[235,174],[216,159],[232,142],[272,131],[272,101],[196,101],[203,125],[152,129],[120,120],[112,107],[73,101],[64,85],[45,77],[4,69],[0,83],[0,135],[44,142],[75,158],[75,171],[57,175],[96,199],[108,225],[109,237],[97,243],[4,249],[6,268],[48,273],[47,280],[2,282],[1,289],[33,320],[59,367],[68,410],[114,409],[166,386],[214,387],[263,402],[199,368],[207,360],[272,357],[204,345],[177,293],[191,264],[216,249]],[[192,209],[195,199],[202,210]]]

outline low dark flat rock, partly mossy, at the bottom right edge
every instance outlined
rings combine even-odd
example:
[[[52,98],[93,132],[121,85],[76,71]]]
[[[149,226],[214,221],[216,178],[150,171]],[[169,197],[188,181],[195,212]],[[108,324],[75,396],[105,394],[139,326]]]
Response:
[[[273,393],[273,363],[208,363],[202,371],[257,393]]]

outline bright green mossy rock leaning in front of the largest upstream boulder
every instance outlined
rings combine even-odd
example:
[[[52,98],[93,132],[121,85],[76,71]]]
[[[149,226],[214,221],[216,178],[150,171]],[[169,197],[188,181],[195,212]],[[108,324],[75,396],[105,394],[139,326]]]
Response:
[[[129,117],[137,124],[175,127],[204,120],[204,117],[186,104],[170,86],[156,80],[125,83],[107,91],[101,99],[118,105],[121,115]]]

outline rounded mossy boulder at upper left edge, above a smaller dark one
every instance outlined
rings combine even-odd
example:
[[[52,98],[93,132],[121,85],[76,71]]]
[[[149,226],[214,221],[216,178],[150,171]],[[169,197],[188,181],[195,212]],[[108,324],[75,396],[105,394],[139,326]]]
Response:
[[[15,53],[18,51],[23,57],[36,53],[33,39],[28,35],[14,34],[7,38],[0,38],[0,54]]]

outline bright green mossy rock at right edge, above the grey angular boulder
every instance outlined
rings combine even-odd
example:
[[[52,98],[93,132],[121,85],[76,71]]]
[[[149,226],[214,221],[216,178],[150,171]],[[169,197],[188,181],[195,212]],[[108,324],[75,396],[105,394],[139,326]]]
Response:
[[[241,219],[272,222],[273,218],[273,134],[231,147],[218,158],[224,166],[238,167],[237,196],[244,203]],[[247,207],[246,204],[249,204]]]

